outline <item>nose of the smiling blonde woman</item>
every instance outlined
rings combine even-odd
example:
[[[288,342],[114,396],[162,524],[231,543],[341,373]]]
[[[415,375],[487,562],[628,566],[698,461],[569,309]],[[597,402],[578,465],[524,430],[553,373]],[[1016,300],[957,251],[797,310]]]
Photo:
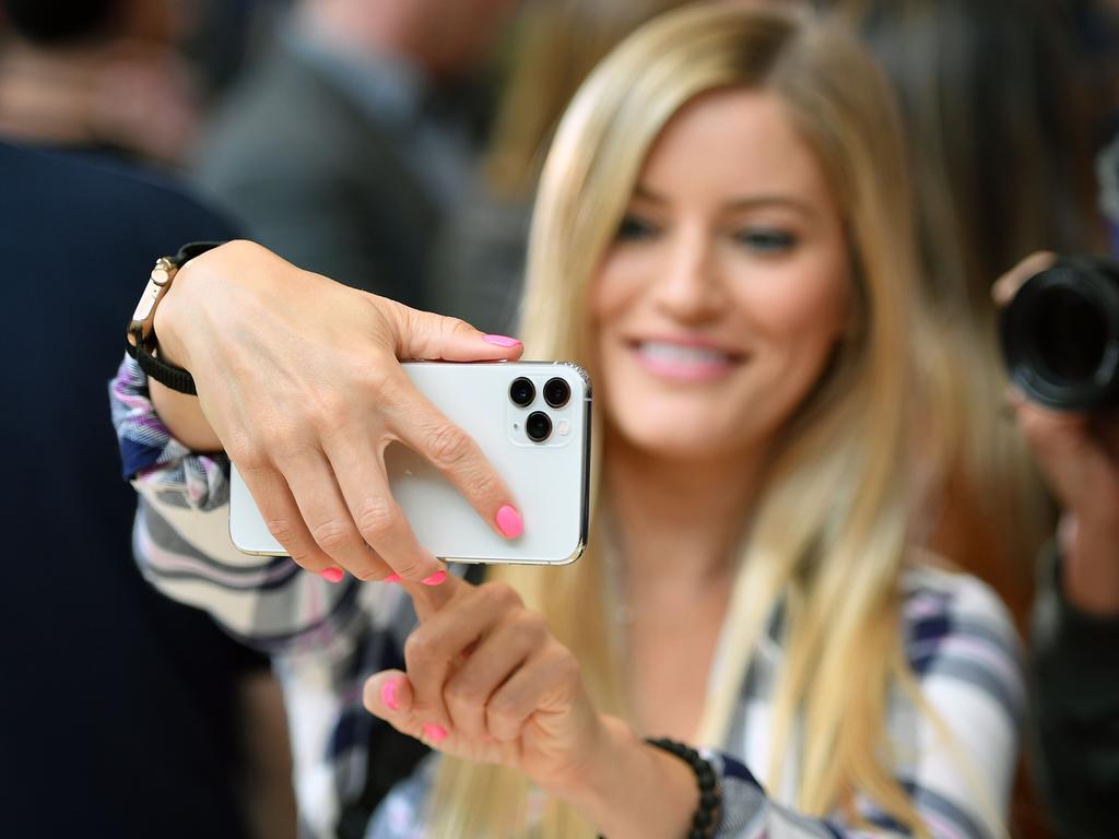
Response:
[[[712,320],[723,310],[726,287],[714,245],[700,225],[677,229],[656,285],[656,301],[662,312],[681,322],[697,323]]]

